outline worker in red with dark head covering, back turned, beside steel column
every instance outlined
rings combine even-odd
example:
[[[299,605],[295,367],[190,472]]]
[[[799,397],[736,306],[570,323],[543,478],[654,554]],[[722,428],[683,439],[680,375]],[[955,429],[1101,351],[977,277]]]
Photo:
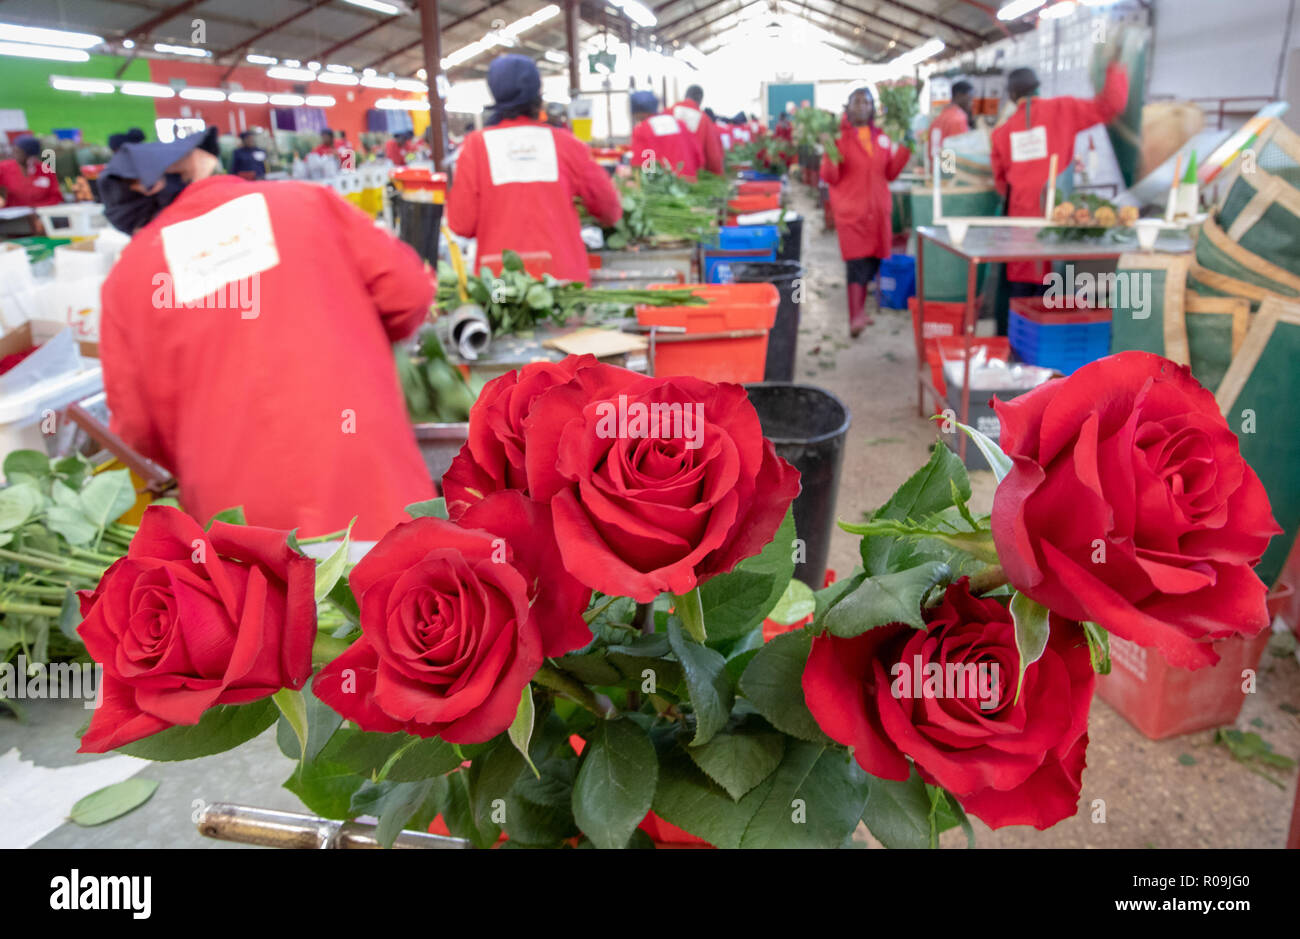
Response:
[[[590,282],[573,196],[608,228],[623,216],[618,190],[585,143],[538,120],[542,77],[532,59],[498,57],[488,87],[495,105],[456,159],[447,225],[478,239],[478,258],[547,251],[551,274]]]

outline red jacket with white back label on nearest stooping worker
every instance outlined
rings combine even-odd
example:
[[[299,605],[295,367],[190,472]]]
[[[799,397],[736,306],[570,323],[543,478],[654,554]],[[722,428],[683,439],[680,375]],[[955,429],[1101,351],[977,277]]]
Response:
[[[432,299],[415,251],[324,186],[195,182],[104,281],[112,428],[199,522],[242,505],[306,537],[356,515],[380,538],[434,496],[393,358]]]

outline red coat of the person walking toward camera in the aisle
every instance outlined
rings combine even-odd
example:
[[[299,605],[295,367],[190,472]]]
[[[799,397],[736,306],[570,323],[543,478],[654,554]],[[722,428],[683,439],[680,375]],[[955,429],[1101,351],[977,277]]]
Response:
[[[848,116],[840,118],[840,163],[822,157],[822,178],[831,187],[835,230],[840,234],[840,256],[888,258],[893,246],[893,200],[889,182],[897,179],[911,159],[907,147],[893,140],[874,124],[871,150],[858,139],[858,129]]]

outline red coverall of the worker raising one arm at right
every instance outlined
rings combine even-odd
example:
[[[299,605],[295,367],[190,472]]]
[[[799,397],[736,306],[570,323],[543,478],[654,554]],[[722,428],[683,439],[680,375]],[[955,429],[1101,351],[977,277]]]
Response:
[[[1057,156],[1057,173],[1063,173],[1074,159],[1074,139],[1095,124],[1108,124],[1128,103],[1128,72],[1119,62],[1106,69],[1106,83],[1095,99],[1032,98],[1023,99],[1015,113],[996,130],[992,138],[991,163],[993,185],[1008,196],[1009,216],[1041,216],[1043,187],[1048,182],[1052,155]],[[1027,116],[1027,117],[1026,117]],[[1045,129],[1045,131],[1043,130]],[[1011,135],[1030,131],[1039,137]],[[1045,146],[1041,134],[1046,134]],[[838,220],[836,220],[838,221]],[[1006,280],[1041,284],[1048,273],[1046,261],[1015,261],[1006,265]]]

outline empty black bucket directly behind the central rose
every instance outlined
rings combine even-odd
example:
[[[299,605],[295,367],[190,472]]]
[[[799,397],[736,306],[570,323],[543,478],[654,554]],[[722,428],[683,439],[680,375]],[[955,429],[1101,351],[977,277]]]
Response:
[[[812,385],[763,382],[746,385],[745,390],[758,411],[763,436],[772,441],[779,456],[800,471],[794,529],[803,541],[805,554],[794,566],[794,576],[820,590],[835,529],[849,408]]]

